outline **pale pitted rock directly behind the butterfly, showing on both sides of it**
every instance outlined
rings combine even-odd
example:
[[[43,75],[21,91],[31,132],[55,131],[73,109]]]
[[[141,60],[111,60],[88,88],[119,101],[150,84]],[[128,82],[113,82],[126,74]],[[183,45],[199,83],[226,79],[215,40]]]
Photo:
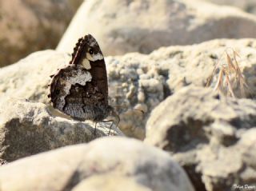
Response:
[[[250,91],[245,89],[246,97],[254,97],[254,39],[214,40],[194,46],[161,48],[148,55],[133,53],[107,57],[110,105],[122,106],[117,108],[121,117],[119,127],[129,136],[145,137],[144,127],[150,111],[183,86],[206,86],[214,65],[217,62],[226,63],[223,55],[227,47],[234,48],[240,54],[238,63],[250,86]],[[46,50],[0,70],[0,100],[22,97],[48,103],[49,76],[69,61],[67,54]],[[234,93],[240,96],[238,86],[234,86]],[[132,108],[142,109],[145,113],[142,115]]]

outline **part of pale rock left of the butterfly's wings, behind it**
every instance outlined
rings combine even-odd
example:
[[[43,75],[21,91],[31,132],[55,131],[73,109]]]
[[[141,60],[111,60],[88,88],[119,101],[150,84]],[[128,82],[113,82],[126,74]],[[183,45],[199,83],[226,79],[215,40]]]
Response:
[[[50,103],[50,75],[68,64],[67,54],[53,50],[39,51],[20,62],[0,70],[0,101],[9,97],[26,98],[30,101]]]

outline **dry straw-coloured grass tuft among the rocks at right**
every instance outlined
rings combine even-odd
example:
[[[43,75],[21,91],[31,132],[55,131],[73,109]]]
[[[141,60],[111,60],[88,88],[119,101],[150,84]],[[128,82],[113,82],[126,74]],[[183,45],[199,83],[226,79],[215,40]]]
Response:
[[[249,86],[246,84],[246,80],[242,75],[241,69],[238,65],[238,58],[240,58],[239,54],[232,50],[232,56],[228,54],[227,50],[226,54],[226,62],[222,63],[221,58],[218,60],[217,64],[214,66],[214,70],[208,78],[206,87],[209,87],[213,81],[214,74],[218,71],[218,80],[214,86],[214,90],[218,90],[218,92],[225,94],[226,96],[236,97],[234,94],[234,85],[238,83],[240,87],[241,96],[245,97],[244,86],[248,90],[250,90]],[[223,55],[222,55],[223,56]]]

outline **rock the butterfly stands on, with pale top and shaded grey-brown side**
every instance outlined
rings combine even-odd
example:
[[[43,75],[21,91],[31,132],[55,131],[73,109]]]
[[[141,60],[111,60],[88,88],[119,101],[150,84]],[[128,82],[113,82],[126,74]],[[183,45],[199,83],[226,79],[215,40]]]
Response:
[[[92,122],[59,117],[43,103],[10,99],[0,105],[0,162],[108,136],[109,127],[98,123],[94,134]],[[110,134],[122,135],[115,127]]]

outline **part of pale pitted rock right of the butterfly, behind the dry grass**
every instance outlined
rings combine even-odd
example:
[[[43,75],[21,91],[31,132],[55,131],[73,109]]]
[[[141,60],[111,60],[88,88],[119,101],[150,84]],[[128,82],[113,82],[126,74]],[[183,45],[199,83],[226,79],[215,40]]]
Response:
[[[161,48],[149,55],[106,58],[113,105],[146,111],[139,115],[135,110],[119,109],[120,127],[127,135],[143,139],[150,111],[184,86],[206,86],[214,65],[225,58],[223,53],[227,47],[234,47],[241,55],[238,62],[250,86],[250,90],[245,89],[246,97],[255,97],[255,46],[254,40],[249,39],[214,40],[194,46]],[[238,86],[234,86],[234,92],[241,97]]]

